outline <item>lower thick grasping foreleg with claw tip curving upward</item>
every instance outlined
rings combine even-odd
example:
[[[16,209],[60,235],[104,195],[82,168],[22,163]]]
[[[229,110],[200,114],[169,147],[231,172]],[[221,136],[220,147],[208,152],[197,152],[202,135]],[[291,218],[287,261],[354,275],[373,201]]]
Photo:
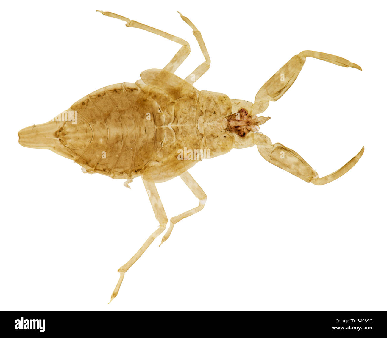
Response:
[[[319,178],[317,172],[313,170],[299,154],[283,146],[281,143],[272,144],[269,137],[263,134],[254,134],[254,142],[257,145],[259,153],[265,160],[301,178],[301,180],[304,180],[305,182],[312,182],[316,185],[327,184],[344,175],[358,163],[364,153],[363,147],[356,156],[349,160],[339,170]]]

